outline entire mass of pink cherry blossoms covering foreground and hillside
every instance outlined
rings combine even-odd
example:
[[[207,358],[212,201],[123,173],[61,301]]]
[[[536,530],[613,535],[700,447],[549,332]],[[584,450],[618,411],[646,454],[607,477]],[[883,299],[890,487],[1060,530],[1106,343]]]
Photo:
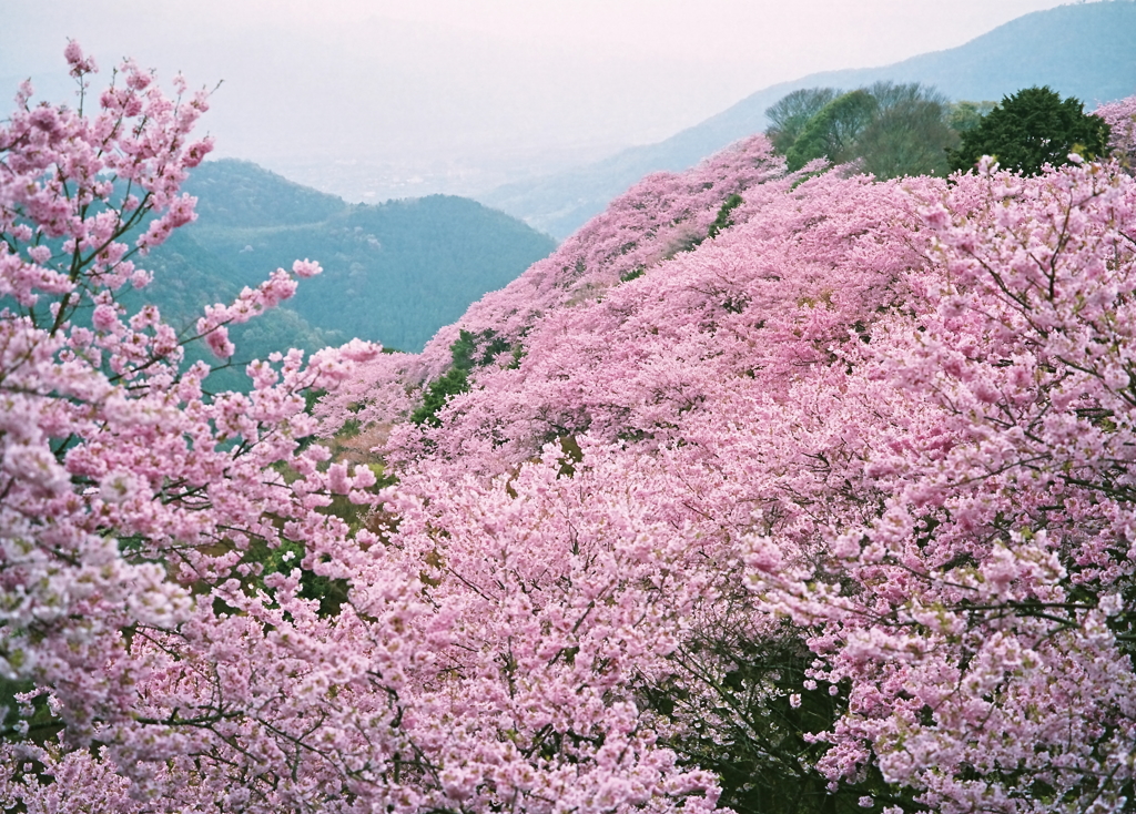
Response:
[[[17,104],[6,808],[1130,809],[1130,102],[1114,160],[1028,178],[790,174],[754,137],[423,354],[211,396],[116,300],[192,218],[207,95],[127,62],[93,114]],[[223,363],[319,270],[197,338]],[[369,465],[335,458],[359,428]]]

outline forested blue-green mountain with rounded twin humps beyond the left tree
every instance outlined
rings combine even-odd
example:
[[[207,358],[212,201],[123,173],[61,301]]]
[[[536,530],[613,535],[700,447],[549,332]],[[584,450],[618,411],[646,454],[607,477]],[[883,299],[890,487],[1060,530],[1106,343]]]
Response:
[[[324,274],[286,309],[234,330],[242,359],[360,337],[421,350],[483,294],[510,283],[556,242],[503,212],[449,195],[349,204],[254,163],[208,161],[183,188],[198,220],[149,258],[154,283],[137,299],[190,326],[276,268],[310,258]]]

